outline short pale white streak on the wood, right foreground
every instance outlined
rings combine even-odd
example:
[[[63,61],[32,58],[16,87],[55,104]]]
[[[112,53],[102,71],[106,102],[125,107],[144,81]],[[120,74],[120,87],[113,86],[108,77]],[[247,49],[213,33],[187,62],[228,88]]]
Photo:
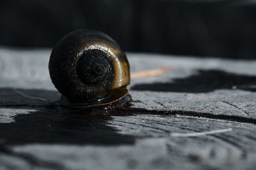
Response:
[[[171,137],[193,137],[193,136],[204,136],[207,134],[217,134],[217,133],[223,133],[223,132],[229,132],[232,131],[232,128],[228,129],[220,129],[220,130],[214,130],[214,131],[205,131],[205,132],[193,132],[193,133],[171,133]]]

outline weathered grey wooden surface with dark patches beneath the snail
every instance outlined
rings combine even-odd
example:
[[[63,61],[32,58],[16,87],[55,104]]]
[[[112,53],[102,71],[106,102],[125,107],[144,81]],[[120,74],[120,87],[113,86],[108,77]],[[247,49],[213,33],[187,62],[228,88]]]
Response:
[[[256,60],[128,53],[133,73],[175,69],[90,112],[58,106],[50,52],[0,48],[0,169],[255,169]]]

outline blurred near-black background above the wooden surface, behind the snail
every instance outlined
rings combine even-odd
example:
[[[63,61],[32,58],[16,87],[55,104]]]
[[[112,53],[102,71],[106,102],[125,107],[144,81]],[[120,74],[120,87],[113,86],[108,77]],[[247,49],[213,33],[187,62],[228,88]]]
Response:
[[[125,51],[256,58],[254,0],[0,1],[0,45],[52,47],[75,29]]]

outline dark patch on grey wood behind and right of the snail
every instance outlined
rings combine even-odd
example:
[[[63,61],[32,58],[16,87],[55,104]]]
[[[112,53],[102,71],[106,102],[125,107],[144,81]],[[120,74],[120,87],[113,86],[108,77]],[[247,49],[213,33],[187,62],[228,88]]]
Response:
[[[172,82],[142,83],[131,90],[150,90],[156,92],[213,92],[217,89],[243,89],[256,91],[256,76],[227,73],[220,70],[199,70],[198,74],[188,78],[177,78]]]

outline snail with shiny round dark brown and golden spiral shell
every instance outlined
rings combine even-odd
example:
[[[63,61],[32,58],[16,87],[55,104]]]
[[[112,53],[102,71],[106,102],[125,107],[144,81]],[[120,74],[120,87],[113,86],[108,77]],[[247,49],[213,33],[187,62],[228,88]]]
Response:
[[[70,32],[56,43],[49,73],[65,106],[113,103],[127,95],[130,83],[129,62],[120,46],[108,35],[90,29]]]

